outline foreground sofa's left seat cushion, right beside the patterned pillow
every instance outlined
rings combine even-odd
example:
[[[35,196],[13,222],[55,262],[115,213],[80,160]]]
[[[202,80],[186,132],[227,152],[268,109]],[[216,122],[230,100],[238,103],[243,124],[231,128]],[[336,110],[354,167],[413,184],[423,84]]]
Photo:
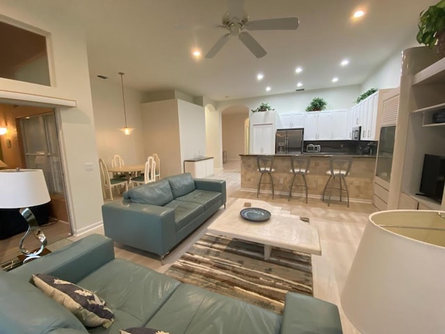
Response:
[[[115,314],[110,328],[99,326],[90,333],[118,333],[122,328],[145,326],[180,283],[152,269],[115,259],[77,284],[104,299]]]

